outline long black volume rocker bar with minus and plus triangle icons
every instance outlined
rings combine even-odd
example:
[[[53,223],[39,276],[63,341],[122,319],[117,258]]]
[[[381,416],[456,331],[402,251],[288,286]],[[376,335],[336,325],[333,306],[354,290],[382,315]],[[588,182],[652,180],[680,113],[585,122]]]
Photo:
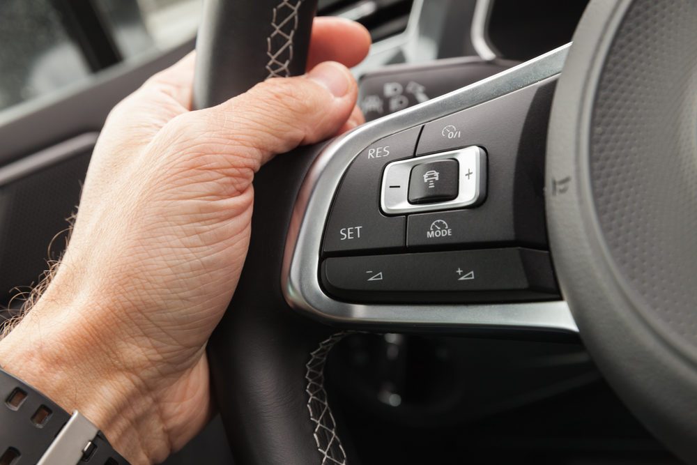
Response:
[[[549,253],[523,247],[334,257],[325,289],[355,302],[477,302],[558,298]]]

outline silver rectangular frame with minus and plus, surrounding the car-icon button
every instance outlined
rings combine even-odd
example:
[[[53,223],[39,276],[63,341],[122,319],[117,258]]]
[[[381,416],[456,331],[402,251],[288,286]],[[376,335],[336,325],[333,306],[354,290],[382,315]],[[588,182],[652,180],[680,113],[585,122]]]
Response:
[[[409,185],[412,170],[424,163],[438,160],[457,160],[457,197],[438,203],[411,203],[409,201]],[[436,173],[439,174],[438,171]],[[436,173],[431,173],[431,177],[427,176],[422,181],[428,186],[429,180],[433,179]],[[434,181],[434,187],[436,182],[438,181]],[[475,206],[484,199],[486,188],[487,153],[481,147],[467,147],[457,151],[436,153],[427,157],[390,163],[383,174],[380,206],[387,215]]]

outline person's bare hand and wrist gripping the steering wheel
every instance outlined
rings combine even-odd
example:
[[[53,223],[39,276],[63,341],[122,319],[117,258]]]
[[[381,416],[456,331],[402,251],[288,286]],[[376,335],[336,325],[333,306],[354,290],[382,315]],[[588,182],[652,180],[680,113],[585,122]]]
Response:
[[[160,462],[213,411],[206,342],[250,238],[254,173],[362,123],[348,70],[369,35],[317,19],[304,77],[190,111],[194,55],[118,104],[93,153],[66,254],[0,364],[77,409],[133,464]]]

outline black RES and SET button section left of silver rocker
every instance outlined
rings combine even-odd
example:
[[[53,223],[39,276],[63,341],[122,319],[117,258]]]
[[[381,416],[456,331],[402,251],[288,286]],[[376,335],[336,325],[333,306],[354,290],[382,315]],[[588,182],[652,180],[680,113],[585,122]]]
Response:
[[[396,250],[406,245],[406,218],[379,208],[380,181],[389,162],[413,158],[421,127],[399,132],[363,150],[339,186],[324,233],[323,251]]]

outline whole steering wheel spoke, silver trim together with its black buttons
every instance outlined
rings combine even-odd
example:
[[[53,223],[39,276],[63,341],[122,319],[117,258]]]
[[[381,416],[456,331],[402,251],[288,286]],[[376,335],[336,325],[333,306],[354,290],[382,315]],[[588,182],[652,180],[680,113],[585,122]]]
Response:
[[[547,121],[566,53],[368,123],[324,148],[286,242],[289,305],[351,328],[575,333],[546,252],[542,200]],[[454,166],[438,168],[443,162]],[[420,167],[424,182],[414,174]],[[430,195],[445,176],[455,177],[450,197],[408,198],[417,189]]]

